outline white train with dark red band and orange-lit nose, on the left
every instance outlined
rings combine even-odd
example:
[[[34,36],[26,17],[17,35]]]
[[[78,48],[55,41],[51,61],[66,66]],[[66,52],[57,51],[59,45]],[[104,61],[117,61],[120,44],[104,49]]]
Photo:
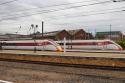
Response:
[[[16,40],[0,41],[1,49],[21,49],[21,50],[50,50],[62,51],[59,44],[52,40]]]

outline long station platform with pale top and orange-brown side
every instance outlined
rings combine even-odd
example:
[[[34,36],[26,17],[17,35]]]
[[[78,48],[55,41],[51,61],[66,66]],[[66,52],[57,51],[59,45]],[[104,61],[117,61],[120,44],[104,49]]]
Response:
[[[125,68],[124,53],[1,50],[0,59]]]

